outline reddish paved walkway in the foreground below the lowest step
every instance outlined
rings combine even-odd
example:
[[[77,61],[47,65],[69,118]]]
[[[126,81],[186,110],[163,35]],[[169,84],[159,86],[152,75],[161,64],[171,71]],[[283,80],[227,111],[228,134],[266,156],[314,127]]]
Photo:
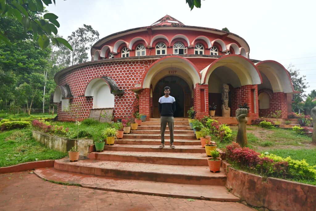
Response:
[[[254,210],[236,202],[189,201],[60,185],[29,172],[0,174],[0,210]]]

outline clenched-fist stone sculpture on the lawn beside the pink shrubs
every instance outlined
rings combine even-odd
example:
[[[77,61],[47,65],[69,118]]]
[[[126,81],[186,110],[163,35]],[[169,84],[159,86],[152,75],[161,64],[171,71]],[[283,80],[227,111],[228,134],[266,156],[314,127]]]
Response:
[[[248,114],[248,109],[236,110],[236,119],[238,121],[238,131],[237,131],[236,142],[240,144],[240,146],[245,146],[248,143],[247,131],[246,131],[247,114]]]

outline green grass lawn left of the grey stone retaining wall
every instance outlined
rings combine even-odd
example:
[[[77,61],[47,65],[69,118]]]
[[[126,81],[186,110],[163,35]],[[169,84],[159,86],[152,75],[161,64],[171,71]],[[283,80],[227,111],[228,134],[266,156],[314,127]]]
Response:
[[[60,159],[67,155],[35,141],[31,129],[1,132],[0,149],[0,167],[36,160]]]

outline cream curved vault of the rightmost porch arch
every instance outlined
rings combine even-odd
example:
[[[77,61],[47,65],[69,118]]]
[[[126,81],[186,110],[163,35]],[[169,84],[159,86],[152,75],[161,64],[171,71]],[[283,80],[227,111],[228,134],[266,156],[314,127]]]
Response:
[[[276,61],[261,61],[255,64],[269,79],[273,92],[293,93],[293,85],[283,65]]]

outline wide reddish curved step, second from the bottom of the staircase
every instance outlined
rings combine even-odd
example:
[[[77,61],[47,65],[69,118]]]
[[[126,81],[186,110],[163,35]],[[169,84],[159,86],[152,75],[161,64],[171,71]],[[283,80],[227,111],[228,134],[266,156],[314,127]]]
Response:
[[[226,174],[221,167],[211,173],[208,166],[148,164],[119,161],[82,159],[70,162],[69,158],[55,160],[54,168],[61,171],[121,179],[195,185],[225,185]]]

